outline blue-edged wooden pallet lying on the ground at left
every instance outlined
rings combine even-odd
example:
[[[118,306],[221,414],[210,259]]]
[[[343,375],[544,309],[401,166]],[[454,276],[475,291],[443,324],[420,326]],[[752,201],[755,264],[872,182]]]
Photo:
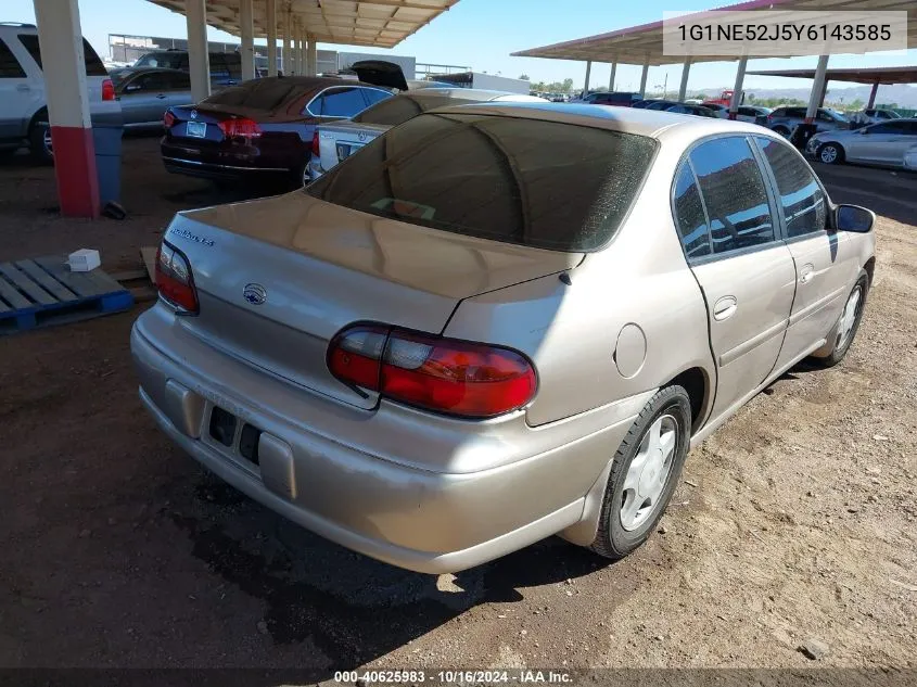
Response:
[[[65,255],[0,263],[0,335],[126,310],[133,296],[101,269],[72,272]]]

